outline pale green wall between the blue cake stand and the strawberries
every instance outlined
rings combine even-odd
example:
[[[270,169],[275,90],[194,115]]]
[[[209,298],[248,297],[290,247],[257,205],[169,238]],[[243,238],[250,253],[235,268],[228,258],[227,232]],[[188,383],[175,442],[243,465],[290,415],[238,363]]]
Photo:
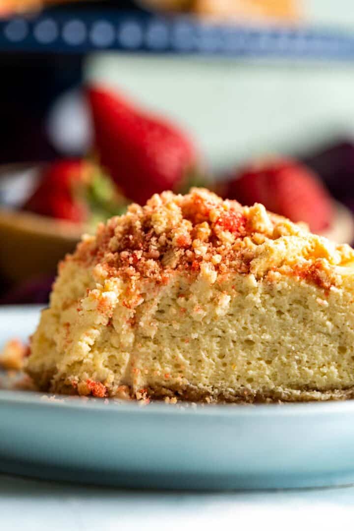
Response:
[[[89,59],[87,77],[176,119],[214,167],[354,137],[354,65],[103,54]]]

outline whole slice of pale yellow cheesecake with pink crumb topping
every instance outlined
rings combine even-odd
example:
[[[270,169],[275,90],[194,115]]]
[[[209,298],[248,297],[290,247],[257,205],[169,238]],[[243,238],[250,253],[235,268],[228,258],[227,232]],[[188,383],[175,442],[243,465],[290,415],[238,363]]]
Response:
[[[60,264],[27,371],[97,397],[351,397],[353,264],[261,204],[154,195]]]

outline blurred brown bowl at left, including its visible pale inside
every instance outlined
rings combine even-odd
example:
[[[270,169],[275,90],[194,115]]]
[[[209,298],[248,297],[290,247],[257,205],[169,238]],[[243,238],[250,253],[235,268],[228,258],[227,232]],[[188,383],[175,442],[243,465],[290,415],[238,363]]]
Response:
[[[75,249],[86,227],[21,211],[36,187],[42,166],[0,167],[0,276],[22,282],[53,275],[58,261]]]

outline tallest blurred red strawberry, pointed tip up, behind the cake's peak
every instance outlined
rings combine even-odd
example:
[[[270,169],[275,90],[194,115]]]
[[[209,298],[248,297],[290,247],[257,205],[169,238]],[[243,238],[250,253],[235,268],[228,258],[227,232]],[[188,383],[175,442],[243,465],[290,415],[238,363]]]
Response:
[[[91,87],[88,97],[100,163],[125,195],[144,204],[178,189],[197,161],[184,133],[111,91]]]

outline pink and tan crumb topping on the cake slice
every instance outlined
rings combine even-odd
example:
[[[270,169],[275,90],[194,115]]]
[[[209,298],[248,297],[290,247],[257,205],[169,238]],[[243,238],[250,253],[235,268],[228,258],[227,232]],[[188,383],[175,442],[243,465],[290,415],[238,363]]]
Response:
[[[134,307],[141,303],[141,282],[163,286],[175,272],[202,275],[211,284],[230,271],[270,282],[278,272],[329,289],[340,282],[333,265],[354,261],[354,251],[261,204],[242,207],[195,188],[186,195],[155,194],[144,207],[132,204],[126,215],[100,224],[96,237],[85,236],[67,260],[92,267],[98,282],[127,282],[125,304]]]

